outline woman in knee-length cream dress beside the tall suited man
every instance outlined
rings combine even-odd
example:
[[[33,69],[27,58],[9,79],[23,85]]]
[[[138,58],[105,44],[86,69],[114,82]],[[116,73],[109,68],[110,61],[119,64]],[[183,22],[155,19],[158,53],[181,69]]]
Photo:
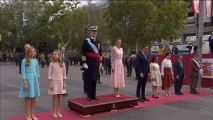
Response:
[[[160,67],[157,62],[158,62],[158,57],[153,56],[152,61],[149,65],[151,82],[152,82],[152,97],[153,98],[159,98],[157,96],[157,88],[162,85]]]

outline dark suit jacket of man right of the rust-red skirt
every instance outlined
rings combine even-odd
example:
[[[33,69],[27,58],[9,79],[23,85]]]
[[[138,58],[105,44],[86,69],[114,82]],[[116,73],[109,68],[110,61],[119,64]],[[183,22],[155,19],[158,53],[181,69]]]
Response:
[[[175,77],[177,75],[179,77],[184,77],[184,67],[181,66],[181,63],[178,60],[173,64],[173,72]]]

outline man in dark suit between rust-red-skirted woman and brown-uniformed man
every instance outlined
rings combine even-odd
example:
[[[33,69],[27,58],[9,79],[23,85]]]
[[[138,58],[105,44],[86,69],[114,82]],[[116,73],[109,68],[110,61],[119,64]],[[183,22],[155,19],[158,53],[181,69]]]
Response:
[[[175,94],[176,95],[183,95],[181,92],[181,87],[184,78],[184,67],[183,67],[183,56],[179,55],[177,61],[173,65],[174,77],[175,77]]]

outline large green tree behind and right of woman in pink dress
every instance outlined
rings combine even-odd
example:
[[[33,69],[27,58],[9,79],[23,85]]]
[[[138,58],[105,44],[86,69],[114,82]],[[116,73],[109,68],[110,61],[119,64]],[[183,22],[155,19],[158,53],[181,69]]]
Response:
[[[176,39],[184,28],[187,6],[176,0],[109,0],[106,21],[111,39],[122,37],[127,47]]]

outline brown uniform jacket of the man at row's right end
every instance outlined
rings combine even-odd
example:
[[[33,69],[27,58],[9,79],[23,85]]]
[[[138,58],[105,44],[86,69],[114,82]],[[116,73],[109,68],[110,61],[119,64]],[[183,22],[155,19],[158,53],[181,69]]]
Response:
[[[193,60],[193,58],[190,60],[190,72],[189,75],[190,76],[194,76],[194,77],[198,77],[199,76],[199,71],[200,68],[197,66],[197,64],[195,63],[195,61]]]

